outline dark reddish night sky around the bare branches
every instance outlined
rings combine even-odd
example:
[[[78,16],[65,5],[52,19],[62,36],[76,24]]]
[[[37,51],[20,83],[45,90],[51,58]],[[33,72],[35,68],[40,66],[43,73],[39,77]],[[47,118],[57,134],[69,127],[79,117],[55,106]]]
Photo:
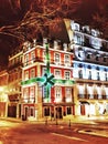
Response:
[[[17,3],[17,1],[19,1],[20,4]],[[20,21],[29,9],[31,1],[32,0],[0,0],[0,28]],[[106,4],[108,0],[83,0],[83,4],[75,17],[80,19],[82,22],[89,24],[93,13],[98,10],[97,4],[99,2]],[[13,38],[0,34],[0,64],[7,63],[10,50],[17,44],[15,42]]]

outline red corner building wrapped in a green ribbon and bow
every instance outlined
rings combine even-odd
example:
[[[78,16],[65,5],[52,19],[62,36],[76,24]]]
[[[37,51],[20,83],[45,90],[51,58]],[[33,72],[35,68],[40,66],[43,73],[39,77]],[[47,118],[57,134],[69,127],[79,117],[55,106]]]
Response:
[[[73,53],[66,43],[60,44],[58,41],[50,43],[47,53],[46,43],[47,39],[43,39],[43,44],[36,40],[23,44],[22,115],[25,120],[63,119],[75,113]],[[43,81],[53,78],[52,74],[54,85],[44,85]]]

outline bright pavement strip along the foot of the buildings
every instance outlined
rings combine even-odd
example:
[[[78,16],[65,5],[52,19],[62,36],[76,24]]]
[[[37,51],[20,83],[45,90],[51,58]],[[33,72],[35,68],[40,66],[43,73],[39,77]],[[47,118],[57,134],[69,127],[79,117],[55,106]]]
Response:
[[[108,115],[100,115],[100,116],[74,116],[72,119],[63,119],[63,120],[48,120],[48,119],[41,119],[39,121],[22,121],[21,119],[17,117],[0,117],[0,120],[7,120],[10,122],[17,122],[17,123],[95,123],[96,121],[104,121],[108,122]]]

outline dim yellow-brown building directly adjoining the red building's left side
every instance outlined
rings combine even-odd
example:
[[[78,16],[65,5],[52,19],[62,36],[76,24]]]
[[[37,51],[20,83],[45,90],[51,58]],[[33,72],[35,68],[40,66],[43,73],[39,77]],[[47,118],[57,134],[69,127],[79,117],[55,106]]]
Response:
[[[22,48],[22,47],[21,47]],[[9,55],[8,115],[21,117],[22,50],[17,48]]]

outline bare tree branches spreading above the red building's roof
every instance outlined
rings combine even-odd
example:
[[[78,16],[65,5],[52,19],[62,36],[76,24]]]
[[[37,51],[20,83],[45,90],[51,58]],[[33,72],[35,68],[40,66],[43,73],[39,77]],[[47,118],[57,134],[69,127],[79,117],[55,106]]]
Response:
[[[12,7],[13,0],[10,3]],[[21,0],[15,0],[21,9]],[[15,37],[21,42],[47,37],[48,28],[55,29],[61,19],[72,18],[80,3],[80,0],[32,0],[23,19],[14,25],[0,28],[0,33]]]

